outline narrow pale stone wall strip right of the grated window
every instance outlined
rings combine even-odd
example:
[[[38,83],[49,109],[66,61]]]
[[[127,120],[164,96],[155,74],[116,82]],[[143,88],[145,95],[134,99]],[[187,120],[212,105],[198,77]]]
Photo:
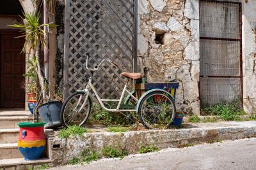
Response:
[[[244,109],[255,113],[256,106],[256,1],[243,1]]]

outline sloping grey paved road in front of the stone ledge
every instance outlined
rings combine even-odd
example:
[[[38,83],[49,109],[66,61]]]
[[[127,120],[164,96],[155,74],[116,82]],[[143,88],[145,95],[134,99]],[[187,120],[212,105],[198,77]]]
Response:
[[[256,138],[169,148],[156,153],[130,155],[122,160],[102,159],[69,169],[256,169]]]

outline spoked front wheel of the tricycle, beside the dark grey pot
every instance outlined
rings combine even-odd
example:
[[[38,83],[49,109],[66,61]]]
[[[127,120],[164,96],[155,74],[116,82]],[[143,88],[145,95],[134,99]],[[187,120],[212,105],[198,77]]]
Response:
[[[61,122],[64,127],[70,125],[82,126],[90,116],[92,99],[86,99],[84,92],[74,92],[68,96],[61,108]]]

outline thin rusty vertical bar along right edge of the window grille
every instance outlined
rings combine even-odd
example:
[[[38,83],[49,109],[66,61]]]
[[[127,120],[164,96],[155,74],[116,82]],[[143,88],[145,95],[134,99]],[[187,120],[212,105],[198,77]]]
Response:
[[[239,24],[239,33],[240,33],[240,76],[241,76],[241,106],[243,107],[243,49],[242,49],[242,4],[239,3],[239,12],[240,12],[240,24]]]

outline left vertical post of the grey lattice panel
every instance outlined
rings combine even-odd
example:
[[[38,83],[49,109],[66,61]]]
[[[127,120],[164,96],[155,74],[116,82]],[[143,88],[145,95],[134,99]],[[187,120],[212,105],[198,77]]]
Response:
[[[65,35],[63,59],[63,98],[68,97],[68,56],[69,56],[70,0],[65,0]]]

